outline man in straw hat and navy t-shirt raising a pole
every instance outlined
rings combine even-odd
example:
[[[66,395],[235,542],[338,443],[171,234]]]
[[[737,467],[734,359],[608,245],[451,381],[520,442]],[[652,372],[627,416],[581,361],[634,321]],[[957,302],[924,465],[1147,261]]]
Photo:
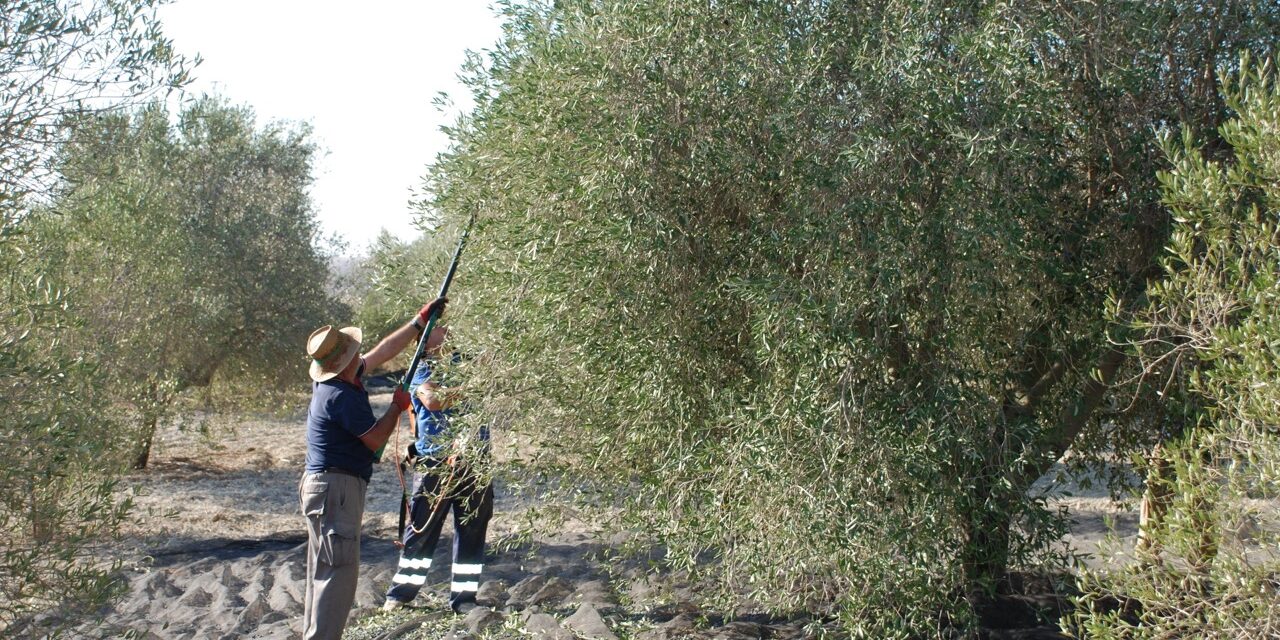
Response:
[[[311,407],[307,411],[307,462],[298,485],[307,518],[307,589],[303,598],[303,639],[340,639],[356,599],[360,575],[360,526],[365,492],[374,472],[376,451],[387,444],[410,397],[397,388],[383,417],[374,417],[361,379],[404,351],[426,326],[435,307],[422,307],[412,321],[392,332],[360,355],[361,332],[355,326],[321,326],[307,338],[311,356]]]

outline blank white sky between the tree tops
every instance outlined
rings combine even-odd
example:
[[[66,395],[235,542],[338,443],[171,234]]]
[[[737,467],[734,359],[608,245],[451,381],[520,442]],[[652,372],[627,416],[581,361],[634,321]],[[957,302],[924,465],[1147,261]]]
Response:
[[[175,0],[160,8],[174,47],[204,63],[192,93],[253,108],[259,124],[308,122],[320,147],[311,198],[326,233],[361,252],[379,229],[408,239],[408,201],[453,122],[431,104],[465,51],[492,49],[485,0]]]

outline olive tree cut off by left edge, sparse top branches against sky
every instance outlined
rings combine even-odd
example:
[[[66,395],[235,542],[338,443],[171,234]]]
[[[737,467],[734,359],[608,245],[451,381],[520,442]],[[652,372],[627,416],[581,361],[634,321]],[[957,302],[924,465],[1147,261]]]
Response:
[[[128,512],[115,494],[123,426],[93,353],[67,348],[86,328],[73,296],[35,266],[33,205],[49,202],[50,160],[68,116],[123,108],[180,86],[150,0],[0,1],[0,635],[52,636],[58,620],[114,590],[109,541]],[[33,627],[33,616],[56,613]]]

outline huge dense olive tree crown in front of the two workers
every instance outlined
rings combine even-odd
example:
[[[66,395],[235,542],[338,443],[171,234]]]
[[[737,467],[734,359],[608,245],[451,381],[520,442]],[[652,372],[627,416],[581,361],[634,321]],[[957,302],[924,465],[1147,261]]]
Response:
[[[972,627],[1060,566],[1028,489],[1158,269],[1152,127],[1212,131],[1204,73],[1275,42],[1193,5],[506,6],[426,184],[480,216],[481,410],[712,599]]]

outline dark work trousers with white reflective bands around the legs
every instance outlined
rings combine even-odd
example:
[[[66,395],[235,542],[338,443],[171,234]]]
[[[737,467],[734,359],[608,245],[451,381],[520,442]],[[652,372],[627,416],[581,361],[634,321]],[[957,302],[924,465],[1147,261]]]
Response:
[[[484,540],[493,517],[493,485],[480,486],[466,467],[449,468],[428,462],[413,477],[411,522],[404,527],[399,566],[387,590],[388,600],[410,602],[426,584],[431,554],[440,540],[444,518],[453,511],[453,580],[449,607],[475,602],[484,568]]]

